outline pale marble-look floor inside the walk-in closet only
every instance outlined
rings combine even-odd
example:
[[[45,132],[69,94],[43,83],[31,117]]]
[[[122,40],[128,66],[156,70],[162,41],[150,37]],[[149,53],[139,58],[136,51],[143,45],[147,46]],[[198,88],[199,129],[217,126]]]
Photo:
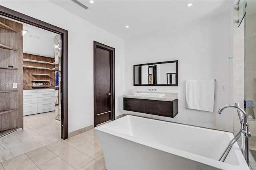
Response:
[[[24,128],[0,138],[0,162],[60,140],[55,112],[24,116]]]

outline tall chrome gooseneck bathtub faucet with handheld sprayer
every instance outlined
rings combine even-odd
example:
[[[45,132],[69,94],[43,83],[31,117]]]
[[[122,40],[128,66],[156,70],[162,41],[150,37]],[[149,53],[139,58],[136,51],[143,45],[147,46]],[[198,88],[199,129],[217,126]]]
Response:
[[[241,129],[238,132],[238,134],[231,140],[231,142],[228,144],[228,147],[226,148],[226,150],[223,152],[222,156],[220,157],[219,161],[224,162],[224,160],[226,159],[226,157],[228,156],[228,152],[230,151],[230,149],[232,148],[233,144],[240,138],[240,136],[242,136],[242,153],[244,155],[244,158],[247,162],[247,164],[249,164],[249,150],[248,150],[248,138],[251,136],[251,133],[249,132],[249,125],[247,123],[247,117],[246,117],[246,113],[245,111],[239,107],[239,104],[236,103],[236,105],[226,105],[224,107],[221,107],[218,110],[218,114],[221,114],[221,112],[224,109],[227,108],[234,108],[237,110],[239,119],[240,119],[240,124],[241,124]]]

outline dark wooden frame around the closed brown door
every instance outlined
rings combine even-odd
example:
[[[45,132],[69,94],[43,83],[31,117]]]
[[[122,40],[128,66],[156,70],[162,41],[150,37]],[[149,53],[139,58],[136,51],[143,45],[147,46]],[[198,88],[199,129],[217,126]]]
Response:
[[[97,47],[100,47],[102,49],[106,49],[108,51],[110,51],[110,54],[111,54],[111,91],[112,91],[112,95],[111,95],[111,110],[112,110],[112,114],[111,114],[111,120],[114,121],[115,120],[115,49],[108,46],[108,45],[104,45],[102,43],[99,43],[99,42],[96,42],[96,41],[93,41],[93,75],[94,75],[94,80],[93,80],[93,96],[94,96],[94,127],[96,127],[96,96],[95,96],[95,90],[96,90],[96,82],[95,82],[95,77],[96,77],[96,71],[95,71],[95,68],[96,68],[96,62],[95,62],[95,54],[96,54],[96,48]]]

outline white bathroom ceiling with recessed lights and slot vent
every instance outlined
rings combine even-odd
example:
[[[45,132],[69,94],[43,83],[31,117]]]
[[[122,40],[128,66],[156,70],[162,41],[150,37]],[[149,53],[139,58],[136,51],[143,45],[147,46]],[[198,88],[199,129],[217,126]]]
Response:
[[[128,40],[175,31],[186,23],[230,12],[237,0],[72,0],[50,2]],[[186,4],[192,3],[187,7]],[[125,28],[125,26],[130,26]]]

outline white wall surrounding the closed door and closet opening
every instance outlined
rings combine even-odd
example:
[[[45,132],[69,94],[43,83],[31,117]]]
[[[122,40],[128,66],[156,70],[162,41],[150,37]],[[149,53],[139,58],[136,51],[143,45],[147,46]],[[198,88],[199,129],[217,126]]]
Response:
[[[68,131],[93,125],[93,41],[115,48],[116,113],[122,113],[124,41],[49,1],[1,0],[6,8],[68,30]]]

